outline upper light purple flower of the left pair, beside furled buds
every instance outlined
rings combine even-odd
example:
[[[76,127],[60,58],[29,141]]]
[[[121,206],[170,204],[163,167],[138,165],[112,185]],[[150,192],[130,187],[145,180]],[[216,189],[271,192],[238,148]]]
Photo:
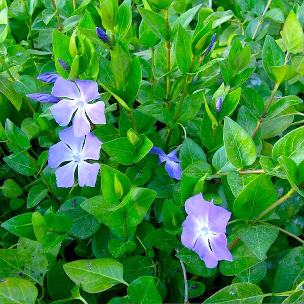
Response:
[[[100,98],[96,82],[79,79],[76,79],[75,82],[76,84],[61,77],[57,78],[52,94],[56,97],[63,97],[63,99],[53,105],[50,110],[59,126],[66,126],[75,113],[74,134],[84,136],[91,130],[88,118],[93,124],[105,124],[104,102],[89,103]]]

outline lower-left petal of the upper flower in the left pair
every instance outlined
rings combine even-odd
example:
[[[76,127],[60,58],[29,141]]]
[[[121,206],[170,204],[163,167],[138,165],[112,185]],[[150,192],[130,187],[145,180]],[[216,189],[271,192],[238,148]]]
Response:
[[[50,107],[53,117],[59,126],[66,126],[72,118],[73,113],[77,110],[74,100],[61,99],[58,103]]]

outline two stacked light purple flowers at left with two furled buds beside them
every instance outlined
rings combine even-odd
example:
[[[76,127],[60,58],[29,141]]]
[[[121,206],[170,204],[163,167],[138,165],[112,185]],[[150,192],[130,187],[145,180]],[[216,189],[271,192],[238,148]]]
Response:
[[[71,187],[78,167],[79,185],[94,187],[99,164],[88,161],[99,159],[101,141],[90,132],[91,123],[105,124],[104,102],[90,103],[100,98],[97,83],[79,79],[71,82],[51,73],[39,75],[37,79],[54,83],[52,94],[34,93],[27,97],[54,103],[50,110],[59,126],[67,126],[72,119],[72,126],[59,133],[61,141],[50,147],[51,168],[69,162],[56,170],[57,186]]]

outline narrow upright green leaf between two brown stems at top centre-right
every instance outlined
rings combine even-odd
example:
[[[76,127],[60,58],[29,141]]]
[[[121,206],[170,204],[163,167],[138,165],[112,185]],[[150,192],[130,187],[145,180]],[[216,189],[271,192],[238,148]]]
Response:
[[[181,26],[178,26],[177,40],[175,45],[176,63],[180,71],[186,74],[190,71],[191,66],[191,36]]]

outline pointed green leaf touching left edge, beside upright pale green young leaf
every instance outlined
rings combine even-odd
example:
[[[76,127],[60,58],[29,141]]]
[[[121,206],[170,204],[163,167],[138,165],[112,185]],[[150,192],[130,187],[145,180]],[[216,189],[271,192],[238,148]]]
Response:
[[[31,217],[32,213],[16,215],[3,222],[1,226],[18,237],[24,237],[35,241],[36,238],[31,223]]]

